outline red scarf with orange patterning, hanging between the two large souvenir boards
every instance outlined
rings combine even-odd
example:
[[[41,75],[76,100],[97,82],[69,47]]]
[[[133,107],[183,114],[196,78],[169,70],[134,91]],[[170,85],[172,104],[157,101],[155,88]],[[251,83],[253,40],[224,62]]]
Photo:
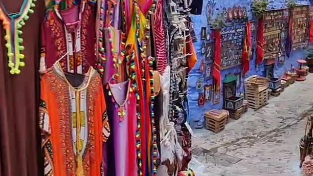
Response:
[[[246,22],[246,35],[244,39],[243,47],[243,76],[246,75],[246,72],[250,70],[250,54],[251,54],[251,27],[250,22]]]

